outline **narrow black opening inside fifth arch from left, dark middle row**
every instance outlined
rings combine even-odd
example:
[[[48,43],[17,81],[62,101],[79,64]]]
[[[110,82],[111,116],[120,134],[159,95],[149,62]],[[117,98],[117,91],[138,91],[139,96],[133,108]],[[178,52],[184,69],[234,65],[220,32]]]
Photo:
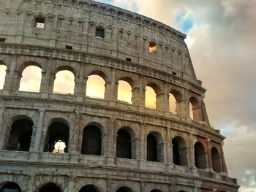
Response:
[[[157,161],[157,141],[151,134],[147,137],[147,161]]]

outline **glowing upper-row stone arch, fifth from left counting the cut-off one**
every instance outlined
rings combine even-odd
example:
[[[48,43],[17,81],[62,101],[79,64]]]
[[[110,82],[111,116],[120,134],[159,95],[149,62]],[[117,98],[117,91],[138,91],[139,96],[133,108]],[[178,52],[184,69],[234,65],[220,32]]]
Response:
[[[127,83],[127,85],[130,86],[129,90],[127,90],[127,85],[123,85],[123,86],[120,86],[120,81],[124,81]],[[117,99],[120,100],[120,101],[127,101],[131,104],[133,104],[135,102],[135,82],[134,80],[132,80],[131,77],[121,77],[119,80],[118,80],[118,91],[117,91]],[[121,95],[121,92],[124,92],[124,96]],[[128,96],[127,96],[128,95]],[[128,100],[128,98],[130,98],[130,100]]]

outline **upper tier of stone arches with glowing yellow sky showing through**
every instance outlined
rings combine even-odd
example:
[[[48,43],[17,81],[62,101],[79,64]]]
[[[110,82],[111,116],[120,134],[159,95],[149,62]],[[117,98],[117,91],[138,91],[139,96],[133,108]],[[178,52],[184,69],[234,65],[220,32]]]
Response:
[[[1,81],[4,81],[1,87],[10,91],[64,93],[124,101],[208,123],[202,96],[181,86],[93,64],[81,66],[75,62],[52,61],[52,65],[48,65],[47,61],[42,63],[36,59],[20,61],[11,69],[10,64],[1,61],[0,66],[5,66],[0,71],[3,74]],[[7,74],[4,74],[4,69]]]

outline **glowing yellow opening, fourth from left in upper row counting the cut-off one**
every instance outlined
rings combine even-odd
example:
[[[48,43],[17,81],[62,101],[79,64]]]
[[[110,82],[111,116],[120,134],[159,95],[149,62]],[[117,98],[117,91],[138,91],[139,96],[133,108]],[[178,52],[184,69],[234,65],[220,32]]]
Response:
[[[86,96],[104,99],[105,80],[97,74],[90,75],[86,83]]]

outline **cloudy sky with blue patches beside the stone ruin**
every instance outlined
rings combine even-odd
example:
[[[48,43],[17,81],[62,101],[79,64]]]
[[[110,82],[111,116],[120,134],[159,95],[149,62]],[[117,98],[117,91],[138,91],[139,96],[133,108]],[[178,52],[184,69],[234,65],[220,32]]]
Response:
[[[204,100],[211,126],[226,137],[228,174],[238,178],[240,192],[256,192],[256,0],[102,2],[146,15],[187,34],[185,41],[197,79],[207,89]],[[1,69],[0,65],[0,88]],[[55,91],[61,92],[61,86]]]

